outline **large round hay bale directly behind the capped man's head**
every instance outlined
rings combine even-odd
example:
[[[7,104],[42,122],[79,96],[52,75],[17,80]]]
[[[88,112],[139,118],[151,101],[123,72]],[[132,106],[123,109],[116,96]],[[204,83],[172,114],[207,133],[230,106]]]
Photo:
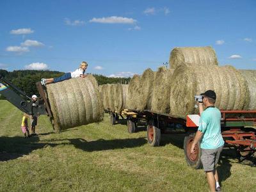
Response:
[[[173,72],[170,114],[185,117],[188,114],[198,113],[194,96],[206,90],[216,92],[215,106],[219,109],[248,109],[248,86],[243,76],[234,67],[184,64]]]

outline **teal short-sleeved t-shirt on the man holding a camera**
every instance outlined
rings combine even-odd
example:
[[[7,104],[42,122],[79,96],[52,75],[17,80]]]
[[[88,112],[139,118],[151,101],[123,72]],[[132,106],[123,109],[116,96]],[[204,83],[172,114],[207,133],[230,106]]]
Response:
[[[207,108],[200,117],[198,131],[204,133],[200,147],[204,149],[218,148],[224,145],[221,136],[221,113],[217,108]]]

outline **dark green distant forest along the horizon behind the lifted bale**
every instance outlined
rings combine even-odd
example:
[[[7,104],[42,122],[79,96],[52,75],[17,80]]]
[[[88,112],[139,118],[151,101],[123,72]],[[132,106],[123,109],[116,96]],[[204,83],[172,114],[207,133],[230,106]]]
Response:
[[[42,78],[60,77],[64,73],[50,70],[13,70],[8,72],[7,70],[0,69],[0,74],[9,81],[12,81],[15,86],[31,97],[34,94],[38,95],[36,82],[41,81]],[[128,84],[131,80],[131,77],[106,77],[97,74],[93,74],[93,76],[97,79],[99,85],[107,83]],[[4,99],[4,97],[0,95],[0,99]]]

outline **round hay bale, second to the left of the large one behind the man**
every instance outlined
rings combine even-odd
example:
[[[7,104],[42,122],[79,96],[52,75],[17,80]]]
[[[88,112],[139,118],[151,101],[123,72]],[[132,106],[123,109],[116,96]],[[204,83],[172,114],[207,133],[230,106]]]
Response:
[[[141,95],[137,100],[137,109],[140,111],[144,109],[151,109],[154,79],[155,73],[150,68],[147,68],[141,76]]]

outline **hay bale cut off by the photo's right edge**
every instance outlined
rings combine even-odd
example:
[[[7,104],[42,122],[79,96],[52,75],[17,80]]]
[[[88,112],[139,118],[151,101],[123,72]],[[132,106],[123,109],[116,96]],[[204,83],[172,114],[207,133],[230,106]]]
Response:
[[[239,70],[247,82],[250,92],[249,110],[256,110],[256,70]]]

